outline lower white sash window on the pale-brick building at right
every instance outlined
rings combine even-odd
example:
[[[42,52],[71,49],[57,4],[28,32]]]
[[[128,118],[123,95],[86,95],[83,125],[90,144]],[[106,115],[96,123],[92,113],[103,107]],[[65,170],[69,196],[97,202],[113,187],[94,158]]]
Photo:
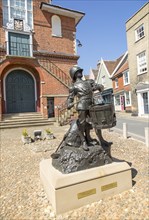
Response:
[[[147,72],[147,62],[145,51],[137,55],[138,74]]]

